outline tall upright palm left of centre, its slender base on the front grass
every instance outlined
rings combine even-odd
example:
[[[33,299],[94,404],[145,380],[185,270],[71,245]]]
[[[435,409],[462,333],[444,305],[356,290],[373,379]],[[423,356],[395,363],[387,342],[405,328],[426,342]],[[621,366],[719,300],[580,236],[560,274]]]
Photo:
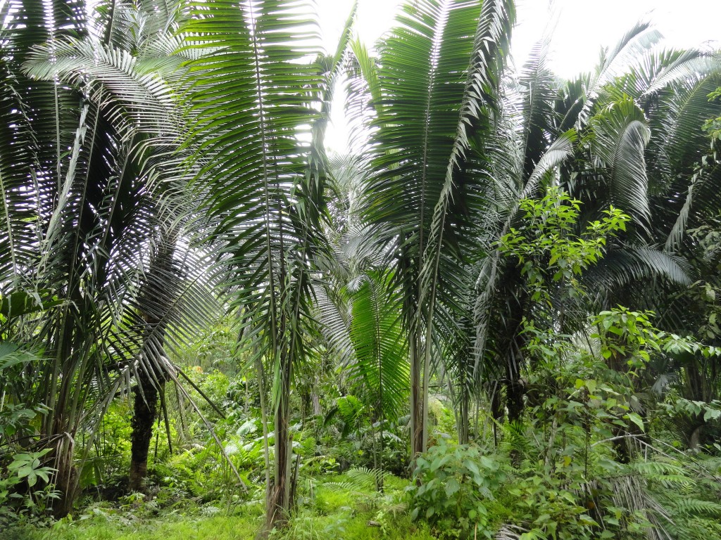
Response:
[[[243,338],[260,367],[263,402],[270,397],[270,531],[291,509],[290,395],[310,354],[312,262],[325,244],[319,142],[350,22],[338,51],[327,57],[316,46],[311,6],[304,3],[219,1],[194,9],[182,30],[192,36],[188,46],[207,53],[190,64],[196,186],[211,240],[221,246]],[[310,144],[301,142],[307,135]]]

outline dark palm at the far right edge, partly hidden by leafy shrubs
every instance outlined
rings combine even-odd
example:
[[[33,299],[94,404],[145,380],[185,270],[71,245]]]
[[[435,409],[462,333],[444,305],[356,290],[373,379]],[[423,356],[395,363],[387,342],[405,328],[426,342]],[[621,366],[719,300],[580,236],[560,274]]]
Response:
[[[681,76],[673,76],[677,73]],[[637,302],[658,312],[661,328],[694,335],[712,345],[718,340],[715,332],[708,331],[713,327],[709,324],[713,302],[708,302],[708,291],[717,286],[717,268],[713,250],[704,246],[704,235],[715,228],[721,209],[721,164],[714,141],[709,145],[699,126],[721,112],[719,103],[707,99],[720,80],[717,56],[671,50],[650,56],[619,81],[620,89],[641,104],[651,127],[646,153],[654,210],[651,235],[665,251],[683,261],[689,275],[685,287],[658,282]],[[710,401],[718,395],[715,359],[685,354],[664,360],[658,364],[658,382],[667,381],[690,400]],[[655,384],[657,389],[664,386]],[[709,433],[707,421],[700,416],[682,418],[678,427],[689,446]]]

